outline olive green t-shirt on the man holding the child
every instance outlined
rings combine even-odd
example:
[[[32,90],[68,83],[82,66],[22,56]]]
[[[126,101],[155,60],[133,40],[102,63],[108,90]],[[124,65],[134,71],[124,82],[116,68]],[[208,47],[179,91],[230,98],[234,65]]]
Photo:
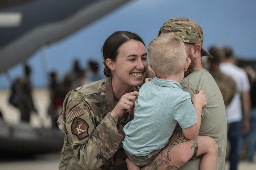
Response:
[[[211,74],[205,70],[195,70],[183,79],[181,86],[190,96],[203,90],[207,99],[207,106],[202,109],[202,120],[199,135],[212,137],[218,146],[217,170],[223,170],[225,166],[227,146],[227,116],[224,101],[220,89]],[[198,170],[201,158],[188,161],[179,169]]]

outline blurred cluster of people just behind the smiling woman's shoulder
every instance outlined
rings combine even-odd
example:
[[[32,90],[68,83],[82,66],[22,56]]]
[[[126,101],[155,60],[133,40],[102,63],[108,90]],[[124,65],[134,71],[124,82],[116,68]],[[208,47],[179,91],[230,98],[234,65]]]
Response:
[[[83,84],[98,81],[102,79],[99,74],[99,63],[94,60],[89,60],[87,68],[83,69],[80,66],[79,60],[74,60],[72,70],[68,71],[63,81],[58,81],[58,74],[51,72],[50,74],[50,95],[51,103],[49,106],[49,115],[52,116],[53,127],[58,127],[56,121],[62,111],[64,98],[71,90],[82,86]]]

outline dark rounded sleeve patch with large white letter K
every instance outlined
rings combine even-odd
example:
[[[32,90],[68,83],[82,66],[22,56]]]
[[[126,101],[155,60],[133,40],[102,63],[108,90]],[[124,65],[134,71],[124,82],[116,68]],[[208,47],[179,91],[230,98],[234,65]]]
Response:
[[[75,118],[71,124],[72,134],[76,135],[79,140],[89,136],[88,128],[86,121],[80,118]]]

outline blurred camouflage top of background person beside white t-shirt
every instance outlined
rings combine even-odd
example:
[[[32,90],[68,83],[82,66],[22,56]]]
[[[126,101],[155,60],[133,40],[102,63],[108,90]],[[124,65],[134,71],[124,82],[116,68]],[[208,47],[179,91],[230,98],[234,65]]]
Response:
[[[234,79],[231,76],[222,73],[221,71],[209,72],[211,73],[212,77],[220,88],[225,107],[227,107],[231,103],[234,95],[237,92]]]

